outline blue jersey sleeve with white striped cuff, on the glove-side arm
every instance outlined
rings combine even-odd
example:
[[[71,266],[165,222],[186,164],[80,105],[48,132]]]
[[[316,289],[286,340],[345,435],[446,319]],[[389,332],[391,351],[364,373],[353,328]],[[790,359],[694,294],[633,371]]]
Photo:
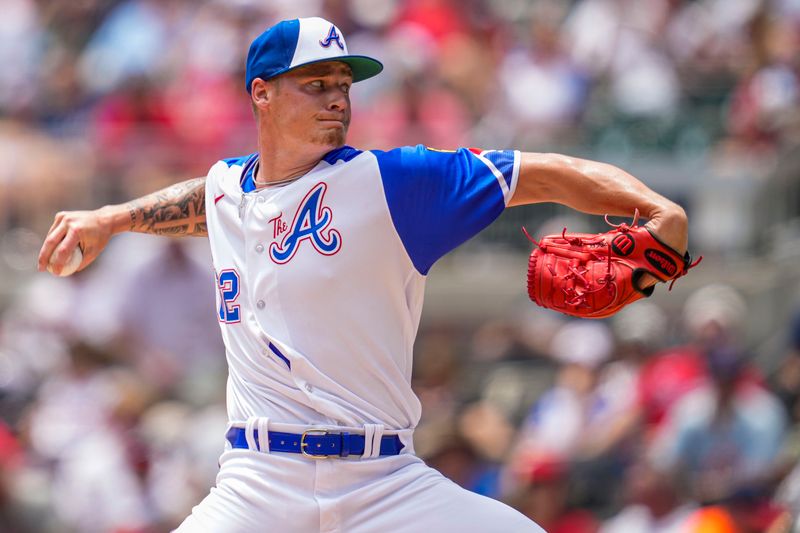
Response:
[[[395,229],[421,274],[500,216],[519,174],[512,150],[418,145],[373,154]]]

